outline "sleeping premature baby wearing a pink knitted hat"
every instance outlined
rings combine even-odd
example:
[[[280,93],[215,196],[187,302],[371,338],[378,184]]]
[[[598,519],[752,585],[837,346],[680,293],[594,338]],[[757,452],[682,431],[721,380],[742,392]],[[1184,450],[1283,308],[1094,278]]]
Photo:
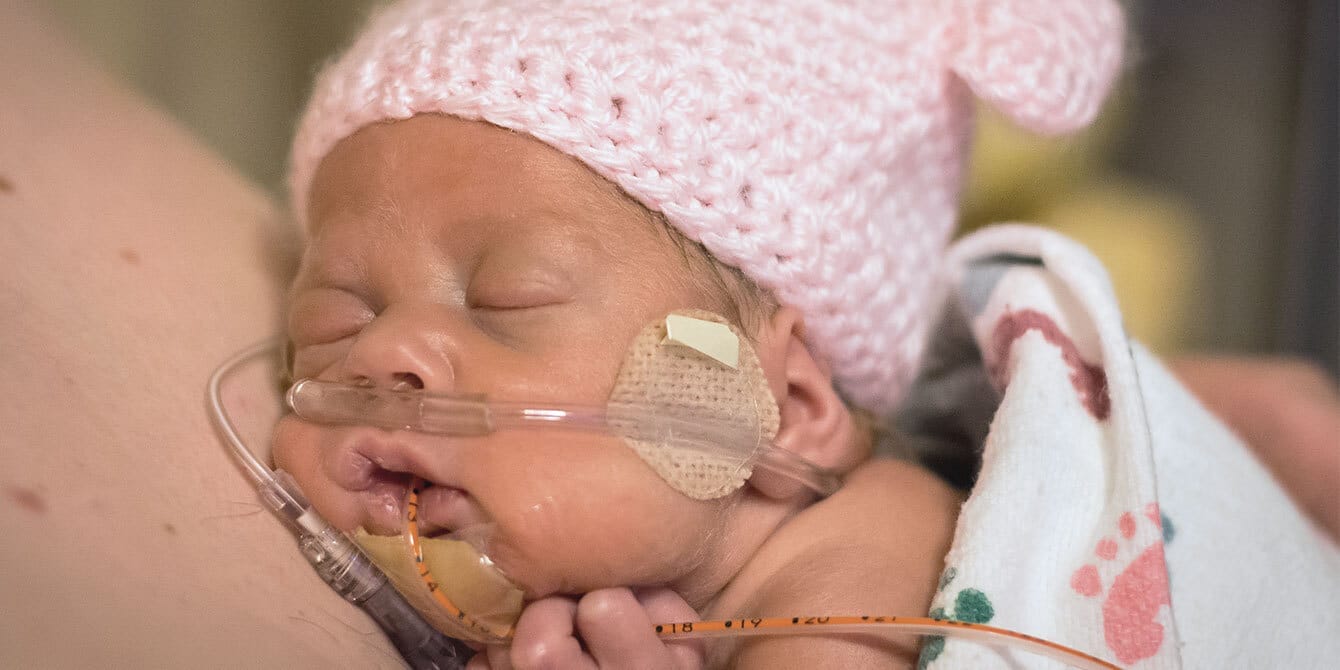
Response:
[[[686,494],[618,436],[295,415],[276,465],[344,531],[399,532],[415,478],[422,532],[485,529],[525,607],[478,667],[911,663],[907,641],[653,624],[927,610],[959,498],[871,460],[870,417],[923,347],[969,87],[1076,127],[1120,42],[1108,3],[972,4],[405,3],[299,129],[295,378],[603,406],[649,324],[713,315],[756,356],[772,445],[842,476],[832,496],[766,469]]]

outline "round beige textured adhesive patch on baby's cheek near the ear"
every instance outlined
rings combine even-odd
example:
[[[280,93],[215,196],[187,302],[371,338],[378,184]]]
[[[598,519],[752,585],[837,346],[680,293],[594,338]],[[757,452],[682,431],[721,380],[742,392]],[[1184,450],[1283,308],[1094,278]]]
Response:
[[[623,359],[610,393],[611,406],[638,403],[657,414],[725,421],[757,434],[753,450],[710,453],[623,436],[623,441],[675,490],[694,500],[712,500],[738,490],[752,474],[752,457],[777,436],[780,413],[749,339],[724,316],[701,311],[671,312],[645,327]],[[693,322],[708,323],[693,323]],[[729,332],[714,324],[725,324]],[[730,334],[737,344],[732,344]],[[722,351],[738,347],[734,366]]]

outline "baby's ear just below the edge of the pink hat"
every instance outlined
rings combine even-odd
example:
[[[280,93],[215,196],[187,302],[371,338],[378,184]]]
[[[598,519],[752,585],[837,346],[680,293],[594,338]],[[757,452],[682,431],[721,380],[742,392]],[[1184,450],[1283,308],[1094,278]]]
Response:
[[[833,389],[832,373],[805,343],[800,312],[783,307],[764,326],[758,354],[777,399],[781,421],[773,444],[821,468],[847,473],[870,454],[851,410]],[[762,494],[788,498],[803,485],[768,470],[754,470],[749,484]]]

